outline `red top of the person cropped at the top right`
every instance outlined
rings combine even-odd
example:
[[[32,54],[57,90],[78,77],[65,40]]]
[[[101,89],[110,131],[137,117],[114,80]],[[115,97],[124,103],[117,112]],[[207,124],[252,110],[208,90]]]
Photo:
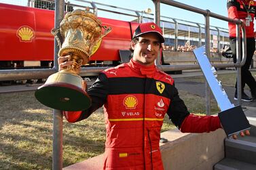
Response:
[[[227,0],[228,18],[245,20],[248,14],[251,16],[252,21],[250,22],[250,26],[245,27],[246,38],[254,37],[253,20],[255,18],[255,11],[256,11],[255,1]],[[230,37],[236,37],[236,24],[232,22],[228,22],[228,28],[229,28]]]

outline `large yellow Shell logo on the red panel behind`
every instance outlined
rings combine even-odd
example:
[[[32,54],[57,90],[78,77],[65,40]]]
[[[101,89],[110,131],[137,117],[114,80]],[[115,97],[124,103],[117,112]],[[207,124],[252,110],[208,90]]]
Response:
[[[31,42],[35,37],[35,33],[29,26],[20,26],[17,30],[17,37],[19,37],[20,41]]]

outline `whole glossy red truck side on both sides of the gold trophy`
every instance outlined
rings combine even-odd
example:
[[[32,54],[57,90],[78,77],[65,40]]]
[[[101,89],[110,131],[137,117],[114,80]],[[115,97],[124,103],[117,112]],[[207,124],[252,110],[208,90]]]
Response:
[[[54,11],[0,3],[0,60],[53,60]],[[130,22],[100,18],[111,33],[103,38],[91,60],[120,60],[119,50],[129,49],[134,28]],[[20,40],[18,30],[24,26],[33,31],[31,39]],[[23,34],[24,36],[24,34]]]

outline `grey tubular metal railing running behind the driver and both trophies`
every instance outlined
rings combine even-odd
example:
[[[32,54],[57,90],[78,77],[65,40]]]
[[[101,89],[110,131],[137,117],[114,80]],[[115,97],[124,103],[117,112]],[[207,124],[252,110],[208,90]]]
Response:
[[[189,5],[185,5],[183,3],[178,3],[176,1],[170,0],[152,0],[155,5],[155,22],[156,24],[160,24],[160,3],[164,3],[167,5],[172,5],[175,7],[179,7],[182,9],[187,9],[191,12],[196,12],[198,14],[204,15],[205,18],[205,46],[206,46],[206,56],[210,54],[210,25],[209,25],[209,17],[217,18],[220,20],[225,20],[227,22],[234,22],[236,24],[236,31],[237,31],[237,54],[238,60],[236,64],[213,64],[216,68],[226,68],[226,67],[234,67],[236,66],[237,74],[238,74],[238,104],[241,104],[241,77],[240,71],[241,66],[244,64],[246,60],[246,51],[245,51],[245,30],[242,28],[242,62],[240,56],[240,24],[239,20],[232,20],[230,18],[220,16],[218,14],[214,14],[209,10],[203,10],[196,7],[192,7]],[[59,26],[60,21],[64,16],[64,7],[65,2],[64,0],[56,0],[55,1],[55,28]],[[58,71],[58,43],[54,40],[54,68],[49,69],[33,69],[33,70],[0,70],[0,81],[7,81],[7,80],[19,80],[19,79],[41,79],[46,78],[49,75],[52,75],[54,72]],[[172,71],[172,70],[190,70],[190,69],[197,69],[200,68],[198,65],[179,65],[179,66],[161,66],[160,59],[157,60],[157,65],[160,70],[163,71]],[[106,68],[106,67],[105,67]],[[82,68],[81,69],[81,76],[89,76],[89,75],[98,75],[99,72],[105,70],[105,68]],[[206,83],[206,114],[210,114],[210,89],[208,84]],[[52,169],[62,169],[62,112],[60,110],[53,111],[53,157],[52,157]]]

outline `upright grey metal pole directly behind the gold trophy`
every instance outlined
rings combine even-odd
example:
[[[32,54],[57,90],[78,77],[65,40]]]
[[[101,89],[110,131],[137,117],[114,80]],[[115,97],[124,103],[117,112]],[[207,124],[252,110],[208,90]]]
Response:
[[[60,26],[64,17],[65,2],[64,0],[55,0],[54,28]],[[58,70],[58,42],[54,39],[54,68]],[[52,169],[62,169],[62,112],[53,110],[53,153]]]

